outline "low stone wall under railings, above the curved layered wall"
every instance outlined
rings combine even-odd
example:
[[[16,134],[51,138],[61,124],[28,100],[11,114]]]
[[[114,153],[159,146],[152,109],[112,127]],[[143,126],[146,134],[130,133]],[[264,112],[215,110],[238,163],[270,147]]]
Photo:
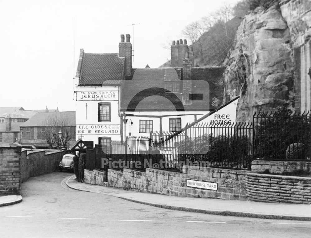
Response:
[[[269,170],[270,173],[282,172],[292,172],[297,170],[304,170],[311,172],[311,162],[302,161],[262,161],[253,160],[252,161],[252,171],[263,172],[264,170]]]

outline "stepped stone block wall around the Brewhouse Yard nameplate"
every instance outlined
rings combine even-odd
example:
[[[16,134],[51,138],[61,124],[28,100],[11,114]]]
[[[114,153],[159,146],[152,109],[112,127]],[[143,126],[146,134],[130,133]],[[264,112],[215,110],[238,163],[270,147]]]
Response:
[[[171,196],[220,199],[246,199],[245,174],[248,171],[183,166],[183,173],[147,168],[146,172],[109,169],[108,186]],[[217,191],[187,186],[187,179],[217,183]]]

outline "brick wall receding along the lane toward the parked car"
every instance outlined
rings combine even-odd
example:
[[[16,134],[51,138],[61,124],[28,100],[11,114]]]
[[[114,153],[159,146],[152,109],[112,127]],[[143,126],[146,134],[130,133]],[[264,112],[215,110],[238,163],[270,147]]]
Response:
[[[27,154],[26,154],[27,153]],[[21,153],[21,182],[30,177],[48,174],[58,170],[64,151],[24,151]]]

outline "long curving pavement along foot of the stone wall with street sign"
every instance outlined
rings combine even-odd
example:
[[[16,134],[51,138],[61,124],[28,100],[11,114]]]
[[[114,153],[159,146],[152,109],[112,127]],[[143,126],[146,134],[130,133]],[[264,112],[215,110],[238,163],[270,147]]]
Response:
[[[113,187],[78,183],[75,175],[67,178],[66,185],[76,190],[106,194],[165,209],[237,217],[311,221],[310,204],[264,203],[133,192]]]

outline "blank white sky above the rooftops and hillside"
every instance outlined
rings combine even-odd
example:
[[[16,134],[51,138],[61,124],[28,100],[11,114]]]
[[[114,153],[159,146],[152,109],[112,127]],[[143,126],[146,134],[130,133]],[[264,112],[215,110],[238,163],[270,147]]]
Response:
[[[238,0],[227,0],[234,5]],[[73,77],[80,48],[118,53],[120,34],[135,25],[133,68],[157,68],[163,48],[189,23],[215,11],[215,0],[0,0],[0,107],[75,111]],[[188,45],[190,40],[188,40]]]

